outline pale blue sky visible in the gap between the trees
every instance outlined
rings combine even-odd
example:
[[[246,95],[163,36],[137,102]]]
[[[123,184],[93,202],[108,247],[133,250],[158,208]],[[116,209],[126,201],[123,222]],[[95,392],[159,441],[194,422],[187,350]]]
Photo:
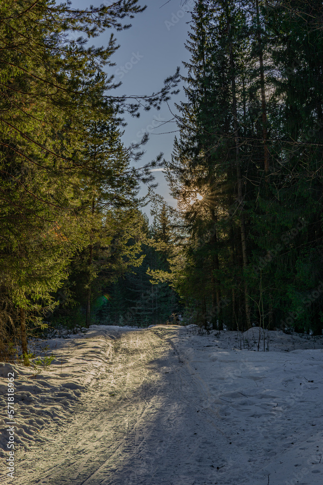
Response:
[[[113,56],[115,67],[110,68],[109,74],[115,74],[115,81],[122,81],[122,86],[115,90],[116,94],[150,94],[158,91],[163,86],[163,81],[173,74],[177,66],[181,67],[184,74],[182,61],[189,59],[189,52],[185,49],[187,31],[190,26],[191,11],[194,0],[148,0],[141,5],[147,4],[147,9],[135,16],[131,21],[132,27],[123,32],[115,32],[120,48]],[[90,3],[100,2],[75,0],[73,6],[84,8]],[[163,5],[164,4],[164,5]],[[128,22],[127,22],[128,23]],[[96,45],[107,45],[110,32],[105,32],[95,39]],[[92,42],[93,43],[93,42]],[[181,88],[181,86],[180,86]],[[183,89],[177,96],[173,96],[169,102],[171,111],[174,111],[174,102],[184,100]],[[175,133],[157,134],[176,130],[175,123],[167,123],[156,128],[161,123],[172,118],[168,106],[165,104],[160,111],[151,109],[141,113],[140,118],[126,117],[128,126],[125,128],[123,142],[125,145],[139,140],[144,131],[150,133],[150,139],[144,147],[146,153],[138,162],[138,165],[153,160],[161,151],[166,159],[170,158]],[[169,188],[161,172],[155,172],[155,179],[159,186],[156,192],[163,195],[167,202],[174,201],[169,195]],[[147,192],[143,188],[141,194]],[[149,210],[145,210],[147,213]]]

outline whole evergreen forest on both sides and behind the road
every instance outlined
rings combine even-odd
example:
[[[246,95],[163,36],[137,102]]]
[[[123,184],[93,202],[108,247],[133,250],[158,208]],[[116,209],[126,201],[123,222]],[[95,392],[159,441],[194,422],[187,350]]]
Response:
[[[117,97],[115,37],[86,39],[142,10],[1,2],[4,358],[92,323],[322,334],[322,2],[197,0],[183,77]],[[124,146],[124,115],[181,82],[172,158],[138,168],[148,137]],[[154,194],[163,163],[176,209]]]

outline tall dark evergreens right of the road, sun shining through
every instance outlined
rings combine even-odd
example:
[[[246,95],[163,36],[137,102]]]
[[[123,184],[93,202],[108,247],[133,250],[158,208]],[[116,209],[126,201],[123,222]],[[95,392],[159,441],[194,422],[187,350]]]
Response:
[[[321,334],[322,2],[198,0],[186,48],[167,163],[186,308],[218,329]]]

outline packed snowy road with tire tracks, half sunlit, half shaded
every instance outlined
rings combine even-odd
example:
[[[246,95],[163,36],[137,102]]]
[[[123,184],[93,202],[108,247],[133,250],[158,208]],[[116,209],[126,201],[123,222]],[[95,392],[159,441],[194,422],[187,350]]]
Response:
[[[223,465],[214,454],[221,431],[213,413],[200,409],[200,386],[163,333],[112,334],[106,369],[72,421],[47,436],[32,464],[17,467],[18,483],[215,483],[216,466]]]

